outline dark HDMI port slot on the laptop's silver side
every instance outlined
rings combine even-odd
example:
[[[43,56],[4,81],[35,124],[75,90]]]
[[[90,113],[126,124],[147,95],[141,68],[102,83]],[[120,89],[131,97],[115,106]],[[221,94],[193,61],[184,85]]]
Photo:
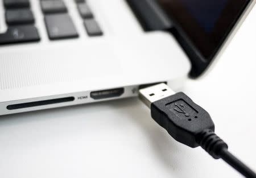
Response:
[[[90,97],[94,100],[100,100],[105,98],[113,98],[113,97],[119,97],[125,92],[124,88],[115,88],[115,89],[109,89],[109,90],[100,90],[96,92],[91,92]]]

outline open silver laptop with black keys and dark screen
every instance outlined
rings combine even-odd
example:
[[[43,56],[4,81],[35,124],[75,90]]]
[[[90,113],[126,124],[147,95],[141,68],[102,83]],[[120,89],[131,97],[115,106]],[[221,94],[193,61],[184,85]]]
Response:
[[[1,0],[0,115],[176,89],[207,71],[255,0]]]

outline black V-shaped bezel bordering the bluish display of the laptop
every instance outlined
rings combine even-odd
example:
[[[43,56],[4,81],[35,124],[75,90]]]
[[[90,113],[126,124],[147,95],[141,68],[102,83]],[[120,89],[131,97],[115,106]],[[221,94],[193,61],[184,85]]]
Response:
[[[197,52],[207,61],[212,60],[216,55],[243,10],[250,3],[250,1],[245,0],[229,0],[213,31],[208,34],[179,0],[157,1],[162,9],[170,15],[175,26],[189,38]]]

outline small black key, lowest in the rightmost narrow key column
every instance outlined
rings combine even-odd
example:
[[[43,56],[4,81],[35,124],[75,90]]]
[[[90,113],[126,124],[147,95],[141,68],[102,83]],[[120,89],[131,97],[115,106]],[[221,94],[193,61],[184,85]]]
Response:
[[[84,26],[86,28],[87,34],[89,36],[101,36],[103,32],[101,31],[100,26],[94,19],[86,19],[84,20]]]

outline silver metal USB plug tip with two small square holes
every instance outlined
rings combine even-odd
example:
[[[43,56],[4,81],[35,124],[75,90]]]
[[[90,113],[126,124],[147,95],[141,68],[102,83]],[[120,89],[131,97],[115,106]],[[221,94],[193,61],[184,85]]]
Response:
[[[174,94],[175,92],[166,84],[158,84],[139,90],[139,98],[149,108],[151,107],[152,102],[161,100]]]

